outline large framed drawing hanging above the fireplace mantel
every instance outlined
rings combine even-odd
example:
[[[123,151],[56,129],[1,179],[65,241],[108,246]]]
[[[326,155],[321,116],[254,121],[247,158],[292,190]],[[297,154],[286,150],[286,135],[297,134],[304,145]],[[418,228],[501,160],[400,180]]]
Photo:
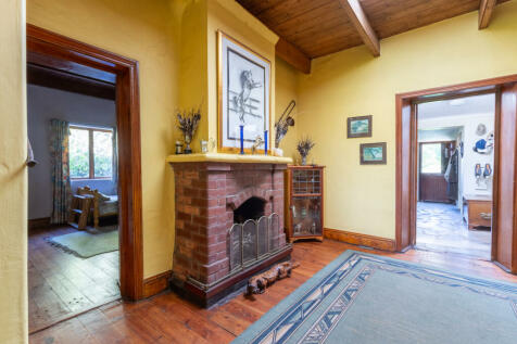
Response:
[[[217,151],[240,152],[240,126],[243,126],[244,152],[257,137],[270,153],[272,63],[266,58],[217,30]]]

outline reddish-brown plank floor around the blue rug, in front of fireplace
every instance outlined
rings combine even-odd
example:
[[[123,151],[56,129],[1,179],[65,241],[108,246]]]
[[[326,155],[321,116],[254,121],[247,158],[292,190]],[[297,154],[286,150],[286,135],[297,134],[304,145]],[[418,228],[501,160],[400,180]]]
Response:
[[[325,240],[294,244],[300,267],[255,300],[242,295],[212,309],[201,309],[172,292],[137,304],[113,302],[30,335],[30,343],[228,343],[314,273],[351,250],[437,266],[447,270],[517,283],[517,276],[495,265],[462,255],[412,250],[390,254]]]

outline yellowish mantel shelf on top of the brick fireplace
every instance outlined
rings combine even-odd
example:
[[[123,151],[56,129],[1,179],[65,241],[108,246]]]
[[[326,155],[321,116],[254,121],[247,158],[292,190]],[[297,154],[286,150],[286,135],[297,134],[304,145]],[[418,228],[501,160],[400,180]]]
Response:
[[[197,153],[168,155],[166,162],[179,163],[241,163],[241,164],[292,164],[292,158],[273,155],[228,154],[228,153]]]

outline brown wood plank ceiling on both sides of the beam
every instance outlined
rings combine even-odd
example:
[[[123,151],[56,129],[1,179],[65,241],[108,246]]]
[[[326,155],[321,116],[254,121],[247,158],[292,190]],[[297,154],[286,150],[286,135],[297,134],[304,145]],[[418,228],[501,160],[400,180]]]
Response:
[[[237,1],[308,59],[364,42],[343,8],[346,3],[343,0]],[[504,1],[507,0],[497,2]],[[480,0],[360,0],[358,3],[378,39],[480,9]]]

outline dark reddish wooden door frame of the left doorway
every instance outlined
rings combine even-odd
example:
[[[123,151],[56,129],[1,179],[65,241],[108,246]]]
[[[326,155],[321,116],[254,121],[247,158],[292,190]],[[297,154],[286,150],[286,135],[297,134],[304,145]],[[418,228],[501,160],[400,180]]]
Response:
[[[115,84],[121,295],[143,297],[138,62],[27,24],[27,62]]]

